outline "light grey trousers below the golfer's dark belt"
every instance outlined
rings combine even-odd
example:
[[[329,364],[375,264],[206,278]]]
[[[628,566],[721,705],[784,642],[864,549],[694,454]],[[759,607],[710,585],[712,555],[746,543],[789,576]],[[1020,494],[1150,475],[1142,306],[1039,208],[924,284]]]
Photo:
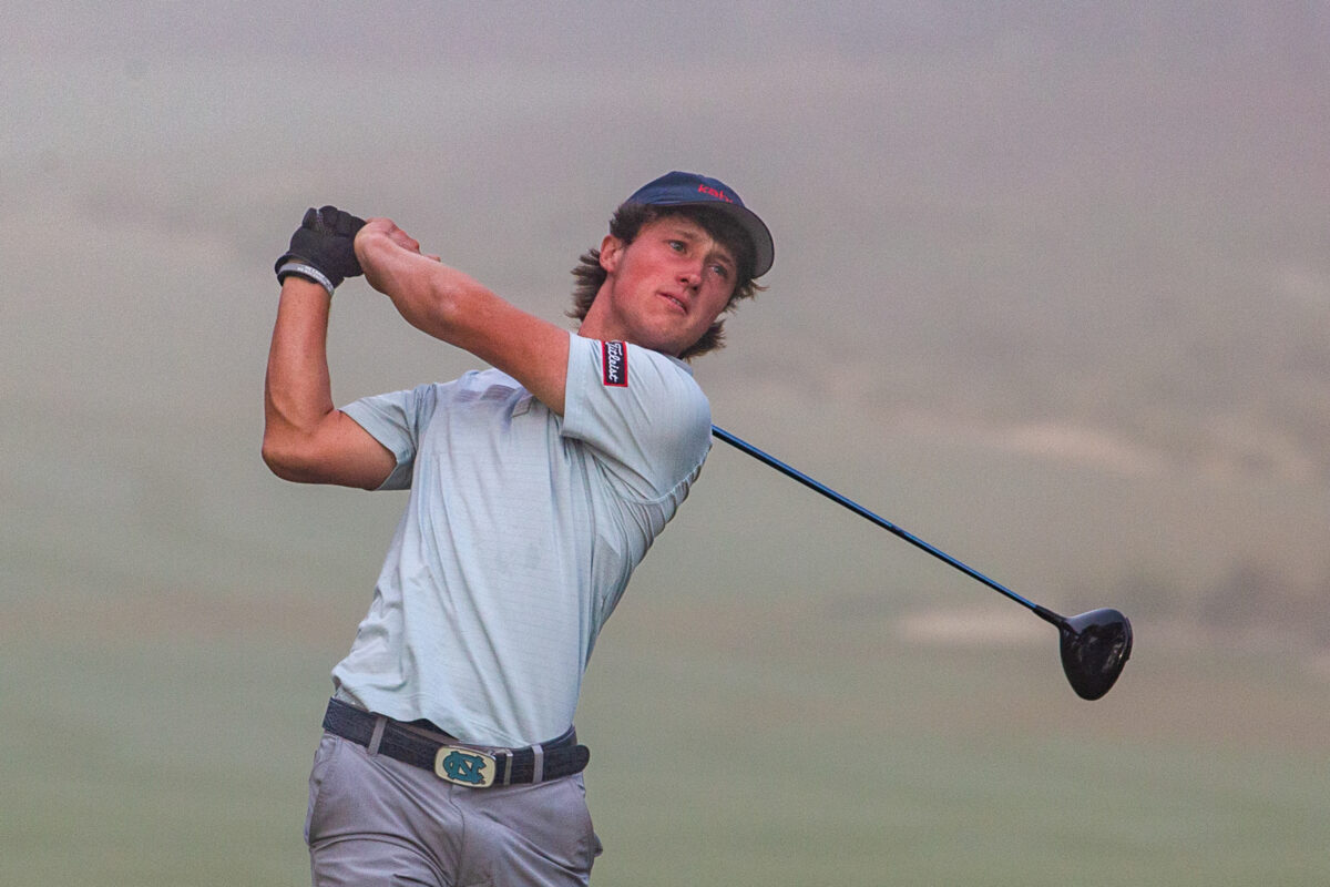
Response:
[[[467,789],[330,733],[305,840],[314,887],[587,884],[601,851],[580,773]]]

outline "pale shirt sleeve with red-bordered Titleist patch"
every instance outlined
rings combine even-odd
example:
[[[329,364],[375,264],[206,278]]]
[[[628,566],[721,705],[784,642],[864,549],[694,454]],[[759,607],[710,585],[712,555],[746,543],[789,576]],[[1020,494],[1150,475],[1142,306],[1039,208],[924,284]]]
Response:
[[[573,335],[564,394],[564,436],[644,500],[690,481],[710,449],[706,396],[686,366],[657,351]]]

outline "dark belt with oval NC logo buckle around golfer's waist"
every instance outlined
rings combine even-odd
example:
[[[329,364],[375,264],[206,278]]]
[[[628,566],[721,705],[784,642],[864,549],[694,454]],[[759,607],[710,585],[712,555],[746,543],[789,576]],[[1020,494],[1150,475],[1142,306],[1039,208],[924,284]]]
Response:
[[[591,750],[577,745],[573,730],[525,749],[472,746],[451,739],[446,733],[436,733],[440,738],[432,738],[411,725],[364,711],[340,699],[329,699],[323,729],[469,789],[557,779],[581,773],[591,761]]]

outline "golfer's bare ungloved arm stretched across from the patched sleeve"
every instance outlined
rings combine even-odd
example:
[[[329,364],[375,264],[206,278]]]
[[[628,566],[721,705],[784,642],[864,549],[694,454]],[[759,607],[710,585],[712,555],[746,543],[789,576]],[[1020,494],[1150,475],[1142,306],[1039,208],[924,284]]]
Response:
[[[563,415],[568,332],[419,250],[386,218],[371,218],[355,237],[366,279],[407,323],[503,370]]]

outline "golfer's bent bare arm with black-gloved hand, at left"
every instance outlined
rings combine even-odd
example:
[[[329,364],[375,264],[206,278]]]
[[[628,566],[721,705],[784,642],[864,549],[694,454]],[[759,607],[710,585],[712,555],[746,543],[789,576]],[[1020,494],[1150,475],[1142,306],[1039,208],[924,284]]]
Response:
[[[303,241],[298,242],[302,235]],[[294,258],[299,259],[295,265],[303,270],[282,274],[263,384],[263,461],[286,480],[374,489],[392,472],[396,459],[350,416],[332,407],[327,363],[332,297],[323,285],[305,277],[323,274],[327,279],[331,274],[340,281],[347,273],[358,273],[351,251],[352,235],[354,231],[338,235],[335,230],[326,230],[319,218],[306,214],[297,237],[291,238]],[[321,255],[321,249],[329,255]],[[283,262],[291,259],[293,253],[283,255],[278,266],[289,267]],[[340,274],[338,253],[342,254]],[[331,281],[330,285],[335,286]]]

